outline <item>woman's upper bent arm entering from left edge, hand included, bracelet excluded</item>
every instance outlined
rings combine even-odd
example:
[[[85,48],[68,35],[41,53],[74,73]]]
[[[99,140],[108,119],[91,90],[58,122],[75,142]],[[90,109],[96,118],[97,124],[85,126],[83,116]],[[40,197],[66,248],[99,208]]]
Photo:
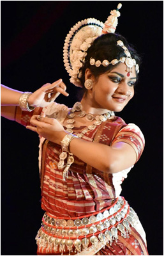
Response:
[[[68,96],[66,86],[62,79],[52,83],[44,84],[29,96],[28,104],[32,107],[45,107],[54,101],[60,93]],[[16,107],[19,106],[19,99],[23,92],[13,90],[1,84],[1,116],[15,120]]]

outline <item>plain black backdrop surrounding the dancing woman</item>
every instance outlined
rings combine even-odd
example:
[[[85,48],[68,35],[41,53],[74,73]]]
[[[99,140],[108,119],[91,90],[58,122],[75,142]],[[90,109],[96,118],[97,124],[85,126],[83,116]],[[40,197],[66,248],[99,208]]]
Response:
[[[73,106],[78,89],[63,65],[64,38],[76,22],[105,22],[118,1],[1,1],[1,83],[34,92],[63,78]],[[137,211],[150,255],[163,255],[163,1],[123,1],[117,32],[142,56],[135,97],[119,113],[137,124],[145,150],[124,180],[123,195]],[[36,255],[40,228],[38,135],[1,118],[1,255]]]

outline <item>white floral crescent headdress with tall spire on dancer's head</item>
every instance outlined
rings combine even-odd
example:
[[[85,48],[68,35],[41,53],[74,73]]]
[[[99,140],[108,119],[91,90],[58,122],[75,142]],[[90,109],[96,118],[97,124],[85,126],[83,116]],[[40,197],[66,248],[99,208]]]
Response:
[[[117,10],[112,10],[110,12],[110,16],[108,16],[105,24],[100,20],[89,18],[79,21],[70,29],[64,41],[63,59],[64,67],[71,77],[70,82],[75,84],[75,86],[82,87],[80,79],[78,79],[81,76],[79,70],[82,68],[83,62],[87,56],[87,49],[91,47],[93,41],[102,34],[115,33],[118,22],[117,17],[120,16],[119,9],[121,6],[122,4],[118,4]],[[112,65],[115,65],[113,64],[114,61],[111,61],[111,63]]]

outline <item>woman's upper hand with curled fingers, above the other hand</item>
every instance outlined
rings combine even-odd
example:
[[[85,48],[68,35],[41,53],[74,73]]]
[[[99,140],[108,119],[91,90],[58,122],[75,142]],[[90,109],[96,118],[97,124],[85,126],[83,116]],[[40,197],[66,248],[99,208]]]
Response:
[[[29,106],[44,108],[48,106],[50,102],[56,100],[60,93],[64,96],[68,96],[66,85],[63,83],[62,79],[52,84],[44,84],[40,89],[30,95],[28,99]]]

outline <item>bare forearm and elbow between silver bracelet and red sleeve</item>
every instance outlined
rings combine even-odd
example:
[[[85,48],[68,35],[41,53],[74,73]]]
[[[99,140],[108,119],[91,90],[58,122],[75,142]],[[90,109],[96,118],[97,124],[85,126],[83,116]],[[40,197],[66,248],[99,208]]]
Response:
[[[127,143],[114,143],[111,147],[75,138],[70,152],[85,163],[106,173],[125,170],[137,161],[135,150]]]

